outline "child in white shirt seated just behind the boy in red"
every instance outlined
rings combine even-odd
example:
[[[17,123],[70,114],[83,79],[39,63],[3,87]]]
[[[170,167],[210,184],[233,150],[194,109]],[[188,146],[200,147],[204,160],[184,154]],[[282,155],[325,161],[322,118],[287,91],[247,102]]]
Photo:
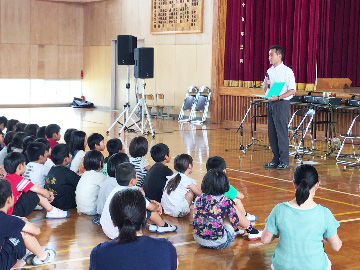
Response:
[[[27,147],[26,153],[30,162],[26,164],[24,178],[43,188],[50,170],[44,165],[47,160],[46,146],[43,143],[33,142]]]

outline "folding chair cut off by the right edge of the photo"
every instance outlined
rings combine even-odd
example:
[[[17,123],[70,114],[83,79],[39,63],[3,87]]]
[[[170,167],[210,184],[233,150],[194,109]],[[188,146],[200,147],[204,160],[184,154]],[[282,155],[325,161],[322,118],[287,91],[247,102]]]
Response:
[[[342,141],[339,152],[338,152],[338,154],[336,156],[336,163],[344,164],[344,165],[347,165],[347,166],[350,166],[350,167],[354,167],[354,166],[359,165],[359,163],[360,163],[360,154],[356,155],[355,146],[354,146],[354,139],[360,139],[360,135],[357,135],[357,134],[353,133],[354,126],[357,126],[357,125],[355,125],[357,122],[360,122],[360,115],[357,115],[352,120],[347,133],[340,135],[340,137],[344,138],[344,140]],[[351,140],[353,154],[352,155],[342,155],[342,156],[346,157],[348,159],[355,159],[355,161],[348,161],[348,160],[345,160],[345,159],[341,159],[341,152],[342,152],[342,150],[344,148],[344,145],[345,145],[345,142],[346,142],[347,139]],[[360,149],[360,146],[359,146],[358,149]],[[346,169],[346,166],[344,167],[344,169]]]

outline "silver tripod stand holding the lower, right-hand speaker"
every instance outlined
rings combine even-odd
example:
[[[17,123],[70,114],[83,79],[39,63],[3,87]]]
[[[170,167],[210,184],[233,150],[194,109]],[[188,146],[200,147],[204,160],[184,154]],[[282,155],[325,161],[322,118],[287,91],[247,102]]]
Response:
[[[141,99],[139,99],[138,103],[136,103],[134,109],[131,111],[129,118],[126,119],[126,122],[124,123],[124,125],[122,126],[122,128],[119,131],[119,135],[121,134],[121,132],[123,132],[123,130],[127,126],[128,122],[132,119],[132,116],[135,114],[135,111],[139,107],[141,107],[141,120],[140,120],[141,125],[139,127],[136,124],[136,127],[139,129],[139,131],[142,134],[150,134],[149,130],[146,128],[147,124],[149,124],[151,135],[153,138],[155,138],[155,131],[154,131],[152,123],[151,123],[151,116],[149,114],[149,110],[148,110],[148,107],[146,105],[146,100],[145,100],[145,86],[146,86],[146,83],[145,83],[145,80],[143,79],[142,97],[141,97]],[[146,113],[146,121],[145,121],[145,113]]]

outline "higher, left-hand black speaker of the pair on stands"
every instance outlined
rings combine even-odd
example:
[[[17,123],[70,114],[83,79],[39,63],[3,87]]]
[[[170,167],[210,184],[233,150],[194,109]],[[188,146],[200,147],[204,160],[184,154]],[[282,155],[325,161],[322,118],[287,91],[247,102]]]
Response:
[[[137,47],[137,37],[129,35],[118,36],[118,65],[134,65],[134,49]]]

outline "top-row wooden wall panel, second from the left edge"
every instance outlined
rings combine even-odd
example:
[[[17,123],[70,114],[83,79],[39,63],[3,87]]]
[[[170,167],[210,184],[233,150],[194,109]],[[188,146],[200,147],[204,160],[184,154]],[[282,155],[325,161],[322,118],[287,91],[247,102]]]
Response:
[[[31,0],[31,44],[57,45],[59,3]]]

